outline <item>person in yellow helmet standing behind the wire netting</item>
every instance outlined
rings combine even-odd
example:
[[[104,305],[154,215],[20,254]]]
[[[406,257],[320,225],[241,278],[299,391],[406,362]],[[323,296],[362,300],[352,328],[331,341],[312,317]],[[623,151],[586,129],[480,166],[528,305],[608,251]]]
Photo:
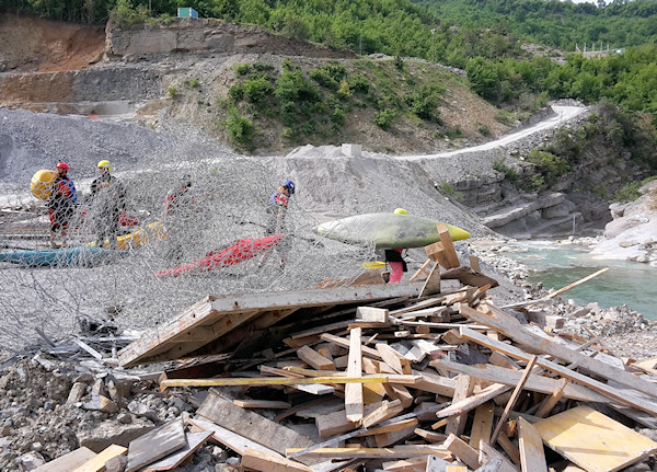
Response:
[[[118,247],[119,218],[126,212],[126,191],[123,183],[112,175],[112,164],[102,160],[96,164],[99,176],[91,183],[92,216],[96,233],[96,246],[103,247],[105,239],[110,247]]]

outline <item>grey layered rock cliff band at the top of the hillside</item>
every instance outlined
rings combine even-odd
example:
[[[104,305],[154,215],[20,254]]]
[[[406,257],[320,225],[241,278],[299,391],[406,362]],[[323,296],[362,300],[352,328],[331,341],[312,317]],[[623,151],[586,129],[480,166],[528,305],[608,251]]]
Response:
[[[212,19],[175,19],[168,25],[140,25],[123,30],[112,22],[105,28],[108,57],[208,53],[217,55],[274,54],[324,58],[355,58],[350,51],[335,51],[320,45]]]

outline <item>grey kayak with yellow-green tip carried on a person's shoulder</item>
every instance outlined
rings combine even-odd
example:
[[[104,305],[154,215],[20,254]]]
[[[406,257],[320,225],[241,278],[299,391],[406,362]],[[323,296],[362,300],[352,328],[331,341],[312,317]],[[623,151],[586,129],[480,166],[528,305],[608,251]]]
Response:
[[[326,221],[314,231],[330,239],[351,244],[373,242],[377,247],[423,247],[440,241],[436,228],[441,221],[414,215],[365,214]],[[470,238],[461,228],[447,225],[452,241]]]

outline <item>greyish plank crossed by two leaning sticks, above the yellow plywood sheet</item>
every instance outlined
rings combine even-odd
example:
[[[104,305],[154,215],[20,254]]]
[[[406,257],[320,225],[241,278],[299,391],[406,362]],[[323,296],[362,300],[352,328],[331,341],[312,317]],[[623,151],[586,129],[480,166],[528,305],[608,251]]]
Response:
[[[529,355],[528,355],[529,356]],[[466,366],[464,364],[451,362],[449,360],[437,359],[430,362],[431,366],[441,367],[451,372],[466,373],[476,379],[487,380],[491,382],[504,383],[505,385],[517,385],[522,377],[522,372],[514,369],[506,369],[493,365],[485,367]],[[525,383],[527,390],[551,394],[558,389],[561,381],[539,375],[530,375]],[[564,390],[564,398],[578,400],[580,402],[602,402],[606,403],[609,399],[593,390],[576,383],[568,383]]]

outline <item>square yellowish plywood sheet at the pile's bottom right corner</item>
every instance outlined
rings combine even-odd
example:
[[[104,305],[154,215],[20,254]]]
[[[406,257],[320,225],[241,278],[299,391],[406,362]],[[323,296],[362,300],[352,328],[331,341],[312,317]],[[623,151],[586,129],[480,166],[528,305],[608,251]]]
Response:
[[[534,425],[543,442],[588,472],[613,472],[643,460],[657,442],[588,406]]]

